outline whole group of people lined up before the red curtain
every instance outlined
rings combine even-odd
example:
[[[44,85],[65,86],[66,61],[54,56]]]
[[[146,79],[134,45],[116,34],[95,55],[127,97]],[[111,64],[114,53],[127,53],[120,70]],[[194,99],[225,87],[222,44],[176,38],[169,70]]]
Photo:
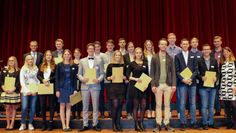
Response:
[[[82,54],[80,49],[76,48],[72,54],[69,49],[63,49],[62,39],[55,41],[55,51],[47,50],[44,54],[37,51],[38,43],[31,41],[29,46],[31,51],[24,55],[22,68],[18,67],[16,57],[11,56],[1,71],[0,103],[6,109],[6,130],[14,128],[16,109],[20,104],[19,130],[26,128],[34,130],[33,120],[38,107],[43,120],[42,131],[53,129],[55,111],[60,113],[63,131],[71,131],[71,114],[75,116],[75,112],[78,113],[78,117],[82,112],[83,127],[79,131],[89,130],[89,106],[92,103],[92,127],[100,131],[98,117],[99,112],[104,116],[104,89],[111,111],[112,129],[115,132],[123,131],[121,114],[124,101],[128,117],[134,120],[135,131],[145,131],[143,124],[145,113],[148,118],[155,118],[157,131],[161,131],[162,127],[167,131],[175,131],[170,125],[173,110],[171,99],[175,94],[180,130],[184,131],[187,126],[193,129],[217,129],[213,116],[215,105],[217,105],[215,114],[220,113],[220,101],[224,103],[227,128],[236,129],[234,111],[236,110],[236,60],[232,50],[221,46],[220,36],[214,37],[214,48],[209,44],[203,44],[201,51],[198,49],[199,40],[196,37],[190,41],[182,39],[180,47],[175,42],[176,35],[169,33],[167,39],[159,40],[159,51],[155,52],[151,40],[144,42],[144,49],[135,48],[133,42],[128,42],[126,50],[126,40],[120,38],[119,49],[114,50],[115,43],[109,39],[106,41],[107,51],[102,53],[101,43],[95,41],[87,44],[87,56],[80,59]],[[59,58],[61,61],[58,62]],[[114,74],[114,70],[118,68],[122,69],[121,77]],[[87,76],[91,69],[95,70],[94,79]],[[186,69],[189,73],[183,76]],[[208,72],[213,72],[215,75],[208,79],[206,74]],[[152,78],[144,91],[135,87],[136,83],[142,83],[140,78],[142,74]],[[6,77],[16,79],[14,87],[10,90],[4,88]],[[115,79],[123,81],[117,82]],[[205,86],[207,80],[213,85]],[[31,85],[39,83],[45,86],[53,84],[54,93],[37,95],[32,91]],[[77,93],[81,93],[82,102],[71,107],[70,96]],[[201,126],[196,120],[196,98],[202,116]],[[48,122],[47,104],[50,112]],[[164,106],[163,119],[162,106]],[[186,107],[189,108],[190,125],[187,125]],[[27,114],[29,114],[28,126]]]

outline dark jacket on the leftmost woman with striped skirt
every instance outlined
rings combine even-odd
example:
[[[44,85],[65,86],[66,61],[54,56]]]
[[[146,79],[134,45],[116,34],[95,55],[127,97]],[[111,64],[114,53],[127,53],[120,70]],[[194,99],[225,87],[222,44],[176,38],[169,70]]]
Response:
[[[0,87],[1,87],[2,85],[4,85],[5,77],[7,77],[8,74],[9,74],[9,72],[8,72],[7,69],[3,69],[3,70],[1,71]],[[20,71],[13,72],[13,73],[11,74],[11,76],[9,76],[9,77],[16,78],[16,82],[15,82],[16,90],[15,90],[15,92],[19,93],[19,92],[20,92]]]

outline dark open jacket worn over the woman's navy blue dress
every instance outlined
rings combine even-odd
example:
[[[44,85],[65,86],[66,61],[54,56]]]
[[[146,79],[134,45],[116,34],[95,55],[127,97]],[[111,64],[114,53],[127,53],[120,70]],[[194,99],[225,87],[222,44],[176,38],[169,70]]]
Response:
[[[76,74],[78,73],[78,69],[74,64],[70,65],[70,80],[72,83],[72,88],[74,90],[77,90],[77,76]],[[55,89],[56,91],[60,91],[60,88],[64,84],[64,78],[65,78],[65,65],[63,62],[57,64],[56,67],[56,81],[55,81]]]

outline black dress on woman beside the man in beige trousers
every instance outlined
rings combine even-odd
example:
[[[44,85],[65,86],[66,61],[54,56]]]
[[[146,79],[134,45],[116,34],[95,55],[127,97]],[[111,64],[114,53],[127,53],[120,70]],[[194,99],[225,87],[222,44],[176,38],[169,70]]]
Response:
[[[148,75],[148,65],[147,62],[144,62],[142,65],[137,64],[135,61],[131,62],[128,66],[126,76],[130,77],[132,73],[132,77],[139,78],[142,73],[145,73]],[[136,81],[130,80],[129,81],[129,97],[131,99],[141,99],[141,98],[148,98],[147,90],[144,92],[140,91],[138,88],[136,88],[134,85],[136,84]]]

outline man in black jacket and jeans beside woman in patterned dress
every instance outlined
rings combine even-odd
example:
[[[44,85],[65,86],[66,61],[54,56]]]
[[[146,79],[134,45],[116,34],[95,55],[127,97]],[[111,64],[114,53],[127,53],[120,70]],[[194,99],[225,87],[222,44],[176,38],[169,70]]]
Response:
[[[209,44],[204,44],[202,47],[203,57],[198,60],[198,79],[199,79],[199,93],[201,96],[202,103],[202,126],[204,130],[208,129],[208,126],[211,128],[217,129],[218,127],[214,124],[214,103],[216,90],[215,84],[213,87],[206,87],[203,85],[204,81],[207,79],[206,71],[215,72],[216,76],[213,78],[215,83],[218,75],[218,64],[214,57],[210,56],[211,46]],[[208,112],[208,113],[207,113]],[[208,115],[207,115],[208,114]]]

